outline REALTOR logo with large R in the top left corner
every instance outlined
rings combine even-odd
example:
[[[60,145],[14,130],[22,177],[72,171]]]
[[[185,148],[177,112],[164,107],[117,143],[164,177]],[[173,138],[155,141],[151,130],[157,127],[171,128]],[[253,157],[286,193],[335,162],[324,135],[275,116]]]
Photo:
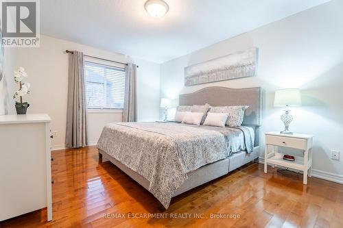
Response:
[[[1,0],[2,45],[39,47],[39,1]]]

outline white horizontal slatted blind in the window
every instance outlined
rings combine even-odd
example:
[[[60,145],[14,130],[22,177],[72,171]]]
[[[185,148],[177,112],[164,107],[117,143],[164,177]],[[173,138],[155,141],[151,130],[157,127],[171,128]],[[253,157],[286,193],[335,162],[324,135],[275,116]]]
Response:
[[[84,62],[88,108],[123,108],[125,69]]]

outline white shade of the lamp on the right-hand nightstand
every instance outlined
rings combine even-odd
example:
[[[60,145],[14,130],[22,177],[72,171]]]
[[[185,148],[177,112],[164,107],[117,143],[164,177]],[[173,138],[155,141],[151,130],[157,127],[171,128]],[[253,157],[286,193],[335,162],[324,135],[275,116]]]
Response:
[[[299,89],[283,89],[276,90],[274,106],[296,106],[301,105],[301,97]]]

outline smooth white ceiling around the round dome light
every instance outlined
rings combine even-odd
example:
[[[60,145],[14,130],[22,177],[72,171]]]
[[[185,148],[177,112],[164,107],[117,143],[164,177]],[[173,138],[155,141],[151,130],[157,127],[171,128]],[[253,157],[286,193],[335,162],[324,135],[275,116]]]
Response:
[[[145,0],[40,1],[40,32],[152,62],[166,62],[328,0],[165,0],[154,18]]]

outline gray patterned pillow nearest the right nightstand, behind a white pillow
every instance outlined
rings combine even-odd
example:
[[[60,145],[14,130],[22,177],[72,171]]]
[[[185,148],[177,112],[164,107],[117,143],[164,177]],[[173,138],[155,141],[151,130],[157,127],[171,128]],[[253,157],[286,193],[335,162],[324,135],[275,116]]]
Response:
[[[209,112],[227,113],[226,126],[239,127],[243,123],[244,112],[248,107],[248,105],[211,107]]]

